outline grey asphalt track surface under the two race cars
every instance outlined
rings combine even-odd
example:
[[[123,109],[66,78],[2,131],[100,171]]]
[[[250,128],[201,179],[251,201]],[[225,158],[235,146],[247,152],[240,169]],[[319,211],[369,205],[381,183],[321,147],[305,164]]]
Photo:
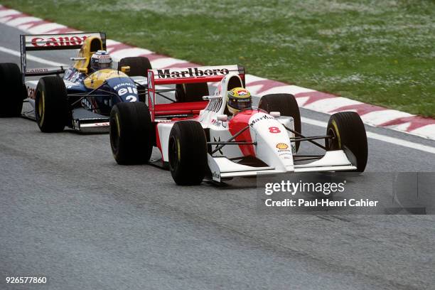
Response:
[[[19,50],[18,30],[0,31]],[[434,171],[435,154],[375,139],[369,150],[367,171]],[[22,118],[0,119],[0,168],[0,289],[434,289],[431,215],[259,214],[252,178],[176,186],[159,168],[118,166],[107,134],[43,134]],[[28,275],[48,284],[5,284]]]

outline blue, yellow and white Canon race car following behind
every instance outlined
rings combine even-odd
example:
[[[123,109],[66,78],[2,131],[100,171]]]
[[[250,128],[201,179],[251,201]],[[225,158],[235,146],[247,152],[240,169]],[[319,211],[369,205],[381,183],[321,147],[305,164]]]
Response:
[[[27,51],[77,48],[78,57],[70,58],[74,62],[70,68],[27,68]],[[0,64],[4,88],[0,116],[35,119],[44,132],[63,131],[65,126],[107,131],[114,104],[145,99],[151,65],[147,58],[123,58],[117,70],[92,72],[92,54],[105,49],[106,36],[100,32],[22,35],[21,70],[14,63]]]

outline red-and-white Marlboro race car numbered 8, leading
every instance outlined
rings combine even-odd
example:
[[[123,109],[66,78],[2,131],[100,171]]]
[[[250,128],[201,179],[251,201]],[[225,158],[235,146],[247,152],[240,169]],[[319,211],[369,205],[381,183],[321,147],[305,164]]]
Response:
[[[156,95],[165,92],[156,85],[183,84],[188,92],[198,82],[219,83],[213,95],[156,104]],[[244,84],[245,70],[238,65],[149,70],[147,102],[119,103],[112,109],[114,159],[119,164],[147,163],[156,146],[158,162],[169,168],[178,185],[259,173],[364,171],[367,136],[358,114],[333,114],[326,135],[307,137],[301,134],[299,107],[290,94],[264,95],[258,108],[231,116],[227,91]],[[324,146],[316,141],[322,139]],[[299,155],[301,141],[326,152]]]

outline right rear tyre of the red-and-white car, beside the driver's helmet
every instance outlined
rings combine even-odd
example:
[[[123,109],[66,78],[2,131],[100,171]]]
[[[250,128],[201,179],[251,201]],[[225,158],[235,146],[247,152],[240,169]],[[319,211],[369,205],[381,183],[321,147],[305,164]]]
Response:
[[[270,112],[280,112],[281,116],[292,117],[294,131],[301,134],[301,112],[299,112],[298,102],[291,94],[269,94],[264,95],[258,104],[259,109]],[[296,136],[297,137],[297,136]],[[296,141],[296,152],[299,150],[299,141]]]

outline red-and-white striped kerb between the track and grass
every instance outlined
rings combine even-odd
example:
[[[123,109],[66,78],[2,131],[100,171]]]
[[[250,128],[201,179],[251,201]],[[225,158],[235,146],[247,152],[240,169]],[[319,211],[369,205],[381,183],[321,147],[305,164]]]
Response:
[[[9,9],[0,5],[0,23],[18,28],[25,33],[68,33],[77,30],[63,26],[62,24],[45,21],[20,11]],[[151,50],[136,48],[131,45],[107,40],[107,50],[114,60],[120,60],[127,56],[145,56],[151,61],[153,68],[187,68],[197,66],[186,60],[169,58],[159,55]],[[222,65],[217,64],[217,65]],[[420,117],[394,109],[365,104],[345,97],[318,92],[305,87],[288,85],[284,82],[267,80],[255,75],[246,75],[246,86],[252,95],[262,96],[272,93],[287,92],[296,97],[300,107],[311,109],[316,112],[333,114],[342,111],[354,111],[360,114],[363,122],[373,127],[384,127],[403,131],[408,134],[435,140],[435,119]]]

